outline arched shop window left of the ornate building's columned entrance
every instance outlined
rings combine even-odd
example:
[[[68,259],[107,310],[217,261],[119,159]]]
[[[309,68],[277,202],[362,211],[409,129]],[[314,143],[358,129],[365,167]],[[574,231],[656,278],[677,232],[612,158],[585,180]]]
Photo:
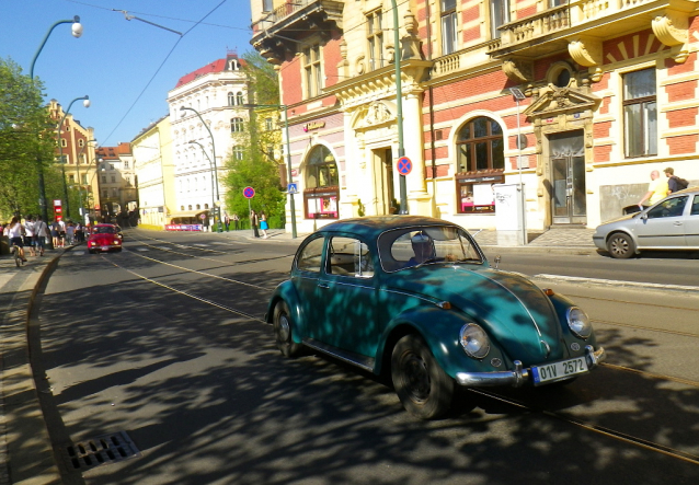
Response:
[[[325,146],[318,145],[311,150],[306,163],[306,218],[337,219],[339,198],[337,163]]]

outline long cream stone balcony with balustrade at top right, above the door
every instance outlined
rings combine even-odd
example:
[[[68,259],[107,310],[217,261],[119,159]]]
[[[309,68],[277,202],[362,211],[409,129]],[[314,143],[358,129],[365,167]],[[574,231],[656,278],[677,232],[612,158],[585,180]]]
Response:
[[[564,50],[575,36],[612,38],[650,28],[667,10],[692,11],[697,0],[571,0],[500,27],[501,39],[489,46],[494,58],[535,58]]]

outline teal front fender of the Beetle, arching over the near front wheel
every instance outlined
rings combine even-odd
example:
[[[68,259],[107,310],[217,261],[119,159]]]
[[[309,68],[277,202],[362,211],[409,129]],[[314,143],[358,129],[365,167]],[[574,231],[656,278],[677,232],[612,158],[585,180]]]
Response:
[[[396,316],[381,335],[377,366],[390,361],[396,343],[412,332],[425,339],[439,367],[454,379],[458,372],[494,372],[514,368],[492,338],[490,351],[483,359],[469,357],[459,342],[459,332],[467,323],[473,323],[473,320],[452,309],[444,310],[435,305],[408,310]],[[495,358],[500,359],[499,367],[491,363]],[[380,367],[375,372],[380,373]]]

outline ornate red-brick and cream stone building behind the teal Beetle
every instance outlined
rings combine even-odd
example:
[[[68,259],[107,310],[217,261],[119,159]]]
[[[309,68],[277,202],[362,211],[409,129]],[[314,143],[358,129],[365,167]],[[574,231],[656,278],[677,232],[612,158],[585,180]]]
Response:
[[[411,213],[495,228],[493,185],[522,181],[530,230],[595,227],[652,170],[699,180],[698,1],[396,3]],[[251,5],[290,114],[301,230],[392,212],[392,2]]]

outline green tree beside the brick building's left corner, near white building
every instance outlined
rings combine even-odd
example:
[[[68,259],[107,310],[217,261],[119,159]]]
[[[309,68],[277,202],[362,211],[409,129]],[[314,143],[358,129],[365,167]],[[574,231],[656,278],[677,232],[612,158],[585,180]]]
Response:
[[[250,80],[251,101],[254,99],[256,104],[277,105],[279,89],[274,67],[256,51],[245,53],[243,59],[245,60],[243,69]],[[273,111],[270,115],[265,115],[265,117],[270,116],[276,117],[277,112]],[[238,213],[244,221],[248,218],[249,200],[242,192],[245,187],[253,187],[255,196],[250,200],[252,209],[257,212],[264,210],[271,228],[283,228],[286,220],[284,206],[286,196],[280,186],[280,165],[271,153],[278,149],[279,132],[276,128],[261,127],[257,119],[259,116],[253,111],[243,132],[233,135],[234,149],[226,161],[228,174],[224,180],[224,184],[228,187],[226,206],[229,212]]]

